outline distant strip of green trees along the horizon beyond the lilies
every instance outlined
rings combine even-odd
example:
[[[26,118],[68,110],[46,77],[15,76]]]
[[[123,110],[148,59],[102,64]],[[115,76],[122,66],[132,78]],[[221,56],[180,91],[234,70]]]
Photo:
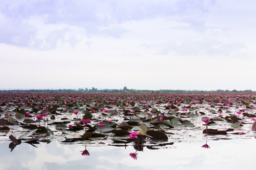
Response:
[[[97,89],[95,87],[79,89],[29,89],[29,90],[0,90],[0,93],[256,93],[252,90],[138,90],[128,89]]]

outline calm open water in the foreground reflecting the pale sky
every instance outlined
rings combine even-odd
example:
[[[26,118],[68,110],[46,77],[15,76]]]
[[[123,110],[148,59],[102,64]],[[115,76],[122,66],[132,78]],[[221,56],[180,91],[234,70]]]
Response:
[[[210,140],[174,143],[167,149],[137,151],[133,146],[86,147],[90,155],[81,155],[84,144],[59,142],[21,143],[10,152],[9,143],[0,144],[0,170],[253,170],[256,139]]]

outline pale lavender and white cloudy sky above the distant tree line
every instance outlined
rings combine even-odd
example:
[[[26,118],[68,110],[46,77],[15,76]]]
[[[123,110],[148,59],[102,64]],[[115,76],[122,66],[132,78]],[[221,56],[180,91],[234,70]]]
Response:
[[[0,89],[256,90],[255,0],[1,0]]]

